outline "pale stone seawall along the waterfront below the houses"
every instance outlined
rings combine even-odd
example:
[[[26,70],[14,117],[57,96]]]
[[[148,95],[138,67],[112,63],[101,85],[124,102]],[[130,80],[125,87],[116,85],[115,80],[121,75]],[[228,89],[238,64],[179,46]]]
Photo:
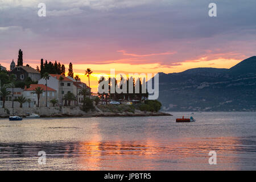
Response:
[[[10,114],[9,114],[10,113]],[[86,112],[82,111],[79,106],[71,106],[71,107],[23,107],[23,108],[15,108],[14,113],[13,109],[0,108],[0,117],[7,117],[9,115],[25,115],[26,113],[35,113],[45,116],[51,116],[56,114],[67,114],[67,115],[82,115],[86,114]]]

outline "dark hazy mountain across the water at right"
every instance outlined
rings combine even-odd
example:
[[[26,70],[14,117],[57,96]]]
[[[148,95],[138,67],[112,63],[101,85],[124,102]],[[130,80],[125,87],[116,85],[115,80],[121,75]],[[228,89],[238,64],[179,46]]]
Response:
[[[256,56],[230,69],[159,73],[159,101],[168,111],[256,111]]]

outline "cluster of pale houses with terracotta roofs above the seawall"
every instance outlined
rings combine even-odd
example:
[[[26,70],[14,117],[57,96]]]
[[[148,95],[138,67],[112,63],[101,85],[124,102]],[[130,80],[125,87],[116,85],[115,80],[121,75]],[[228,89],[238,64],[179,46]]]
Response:
[[[7,71],[7,68],[2,65],[0,65],[0,69],[1,71]],[[48,74],[47,77],[44,77],[44,75],[29,65],[16,65],[14,60],[11,61],[8,72],[14,76],[15,81],[25,82],[31,80],[31,82],[36,84],[30,84],[29,87],[25,85],[24,88],[11,85],[6,86],[6,91],[9,95],[5,97],[5,100],[1,96],[0,108],[81,105],[84,96],[77,93],[84,92],[88,95],[91,93],[91,88],[82,82],[80,78],[65,76],[65,74]],[[37,92],[38,89],[39,92]],[[73,98],[64,100],[69,95],[73,96]],[[77,98],[74,98],[76,96]],[[23,98],[24,102],[22,99],[20,101],[20,98]]]

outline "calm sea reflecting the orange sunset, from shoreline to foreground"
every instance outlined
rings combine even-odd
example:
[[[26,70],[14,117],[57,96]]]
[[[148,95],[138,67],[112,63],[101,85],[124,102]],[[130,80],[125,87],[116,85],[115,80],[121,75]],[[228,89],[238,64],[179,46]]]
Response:
[[[195,113],[193,123],[171,114],[0,119],[0,170],[256,170],[255,112]]]

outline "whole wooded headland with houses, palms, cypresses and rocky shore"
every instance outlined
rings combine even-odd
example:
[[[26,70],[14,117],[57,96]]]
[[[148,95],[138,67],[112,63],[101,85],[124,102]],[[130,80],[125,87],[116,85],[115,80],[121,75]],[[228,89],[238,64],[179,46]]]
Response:
[[[142,93],[141,78],[133,77],[133,90],[138,84],[139,93],[92,93],[90,75],[87,68],[87,85],[78,75],[73,74],[72,63],[69,63],[68,74],[64,64],[51,63],[41,59],[40,68],[23,65],[23,52],[19,50],[18,60],[10,61],[10,69],[0,65],[0,117],[37,113],[45,117],[87,115],[166,115],[158,113],[161,108],[159,101],[147,100],[148,93]],[[128,82],[129,79],[126,81]],[[98,83],[110,78],[101,77]],[[117,80],[114,78],[114,84]],[[120,85],[119,85],[120,86]],[[127,84],[127,89],[129,84]],[[2,109],[1,109],[2,108]],[[107,114],[106,114],[107,113]]]

